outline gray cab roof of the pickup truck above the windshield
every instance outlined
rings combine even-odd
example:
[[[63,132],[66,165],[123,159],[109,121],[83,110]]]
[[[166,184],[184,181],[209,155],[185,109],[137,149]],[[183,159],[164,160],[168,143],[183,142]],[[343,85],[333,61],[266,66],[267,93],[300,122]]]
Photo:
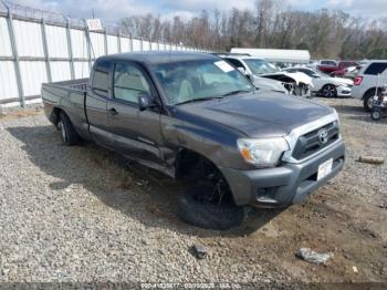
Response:
[[[142,61],[149,64],[159,64],[177,61],[191,61],[191,60],[218,60],[209,53],[200,52],[179,52],[179,51],[144,51],[144,52],[125,52],[111,55],[101,56],[100,60],[126,60],[126,61]]]

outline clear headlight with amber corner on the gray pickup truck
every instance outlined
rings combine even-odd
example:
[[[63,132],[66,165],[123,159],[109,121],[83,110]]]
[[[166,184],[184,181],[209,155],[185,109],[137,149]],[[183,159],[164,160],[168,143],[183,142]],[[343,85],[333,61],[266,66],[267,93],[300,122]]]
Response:
[[[289,151],[287,142],[282,138],[238,139],[238,148],[244,160],[257,167],[274,167],[282,154]]]

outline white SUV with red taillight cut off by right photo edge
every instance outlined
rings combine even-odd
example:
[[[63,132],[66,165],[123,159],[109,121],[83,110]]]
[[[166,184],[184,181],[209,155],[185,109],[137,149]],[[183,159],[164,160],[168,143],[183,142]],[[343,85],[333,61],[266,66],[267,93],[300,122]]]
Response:
[[[364,108],[369,112],[375,95],[380,95],[387,84],[387,60],[369,61],[362,68],[354,81],[352,96],[363,101]]]

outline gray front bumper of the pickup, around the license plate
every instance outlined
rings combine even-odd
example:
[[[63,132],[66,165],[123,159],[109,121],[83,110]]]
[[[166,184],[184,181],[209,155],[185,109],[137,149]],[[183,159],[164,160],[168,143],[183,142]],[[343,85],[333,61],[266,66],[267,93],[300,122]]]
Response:
[[[332,172],[317,180],[318,166],[331,158]],[[345,146],[339,141],[299,164],[285,163],[280,167],[255,170],[221,168],[221,172],[231,187],[237,205],[286,207],[300,203],[337,175],[343,168],[344,159]]]

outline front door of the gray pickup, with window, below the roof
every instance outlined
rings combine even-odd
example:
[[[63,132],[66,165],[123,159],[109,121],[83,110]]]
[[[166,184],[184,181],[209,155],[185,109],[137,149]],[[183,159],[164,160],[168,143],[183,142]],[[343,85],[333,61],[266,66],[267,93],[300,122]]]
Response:
[[[163,164],[160,113],[158,108],[139,111],[138,95],[143,92],[156,95],[144,69],[135,62],[116,62],[112,97],[107,100],[108,126],[116,151],[159,169]]]

